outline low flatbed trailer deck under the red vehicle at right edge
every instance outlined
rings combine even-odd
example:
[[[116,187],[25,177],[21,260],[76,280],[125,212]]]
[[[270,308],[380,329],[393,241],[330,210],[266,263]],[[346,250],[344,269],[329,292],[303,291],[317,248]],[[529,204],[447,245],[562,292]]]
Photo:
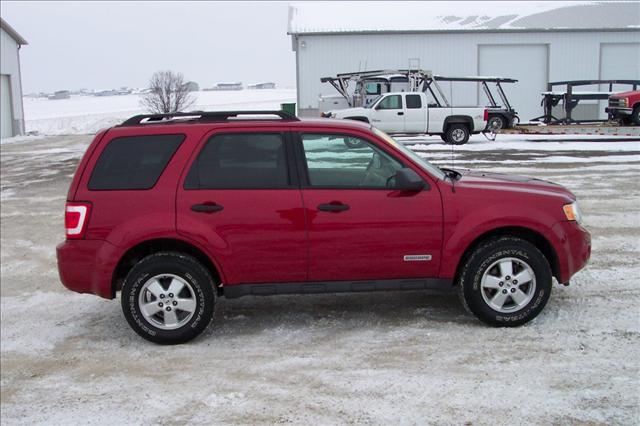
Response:
[[[501,129],[496,135],[598,135],[640,138],[640,126],[619,126],[611,123],[591,124],[518,124]]]

